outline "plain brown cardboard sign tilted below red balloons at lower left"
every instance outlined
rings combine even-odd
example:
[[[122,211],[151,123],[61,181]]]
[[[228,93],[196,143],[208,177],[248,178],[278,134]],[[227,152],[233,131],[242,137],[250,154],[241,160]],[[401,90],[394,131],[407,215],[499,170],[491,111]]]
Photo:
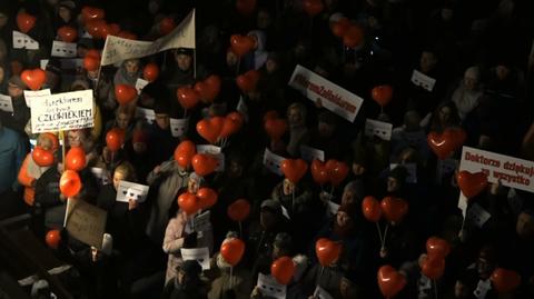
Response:
[[[102,249],[107,212],[83,200],[69,199],[65,213],[67,231],[86,245]]]

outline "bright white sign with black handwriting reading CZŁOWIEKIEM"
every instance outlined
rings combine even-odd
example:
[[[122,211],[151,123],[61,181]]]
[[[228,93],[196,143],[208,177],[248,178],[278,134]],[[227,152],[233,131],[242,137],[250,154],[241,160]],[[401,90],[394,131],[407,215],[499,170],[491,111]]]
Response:
[[[92,90],[65,92],[32,100],[31,132],[77,130],[93,127]]]

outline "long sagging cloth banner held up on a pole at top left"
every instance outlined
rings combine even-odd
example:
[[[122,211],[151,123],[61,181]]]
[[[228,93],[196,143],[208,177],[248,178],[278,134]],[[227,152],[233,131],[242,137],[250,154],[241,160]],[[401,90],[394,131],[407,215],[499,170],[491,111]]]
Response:
[[[151,56],[181,47],[195,49],[195,10],[169,34],[154,42],[108,36],[103,46],[100,66],[109,66],[127,59]]]

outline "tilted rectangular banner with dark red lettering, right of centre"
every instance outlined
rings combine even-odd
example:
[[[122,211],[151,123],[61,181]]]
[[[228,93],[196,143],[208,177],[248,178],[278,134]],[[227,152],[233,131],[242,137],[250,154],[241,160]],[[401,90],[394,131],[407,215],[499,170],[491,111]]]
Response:
[[[289,79],[289,86],[300,91],[313,102],[320,100],[324,108],[354,121],[364,99],[326,80],[315,72],[297,66]]]

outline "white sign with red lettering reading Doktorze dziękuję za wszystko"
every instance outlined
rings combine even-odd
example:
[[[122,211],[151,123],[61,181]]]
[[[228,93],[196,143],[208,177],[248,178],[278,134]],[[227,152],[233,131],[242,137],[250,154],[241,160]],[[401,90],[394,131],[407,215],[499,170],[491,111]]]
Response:
[[[534,162],[475,148],[464,147],[459,170],[483,171],[487,181],[534,192]]]

